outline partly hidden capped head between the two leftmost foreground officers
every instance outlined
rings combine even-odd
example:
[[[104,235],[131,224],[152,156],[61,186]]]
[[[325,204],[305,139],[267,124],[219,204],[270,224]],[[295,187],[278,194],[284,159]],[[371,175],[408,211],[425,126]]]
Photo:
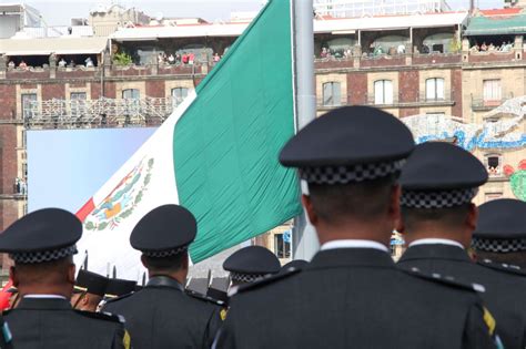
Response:
[[[80,269],[71,297],[71,306],[75,309],[97,311],[97,307],[104,297],[108,278],[105,276]]]

